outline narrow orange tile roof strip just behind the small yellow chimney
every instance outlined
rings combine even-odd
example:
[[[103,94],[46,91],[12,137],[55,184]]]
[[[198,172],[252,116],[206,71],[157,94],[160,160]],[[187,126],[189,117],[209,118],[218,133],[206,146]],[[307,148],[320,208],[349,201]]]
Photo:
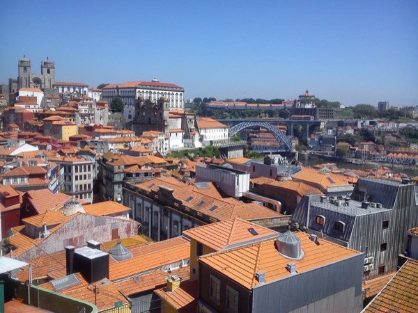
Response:
[[[122,282],[116,282],[115,284],[129,296],[131,294],[138,294],[140,292],[164,287],[167,284],[167,277],[171,275],[178,275],[182,280],[188,280],[190,278],[190,267],[183,266],[182,268],[176,268],[171,270],[171,273],[157,270],[152,273],[139,275],[139,281],[135,281],[134,278],[128,278]]]

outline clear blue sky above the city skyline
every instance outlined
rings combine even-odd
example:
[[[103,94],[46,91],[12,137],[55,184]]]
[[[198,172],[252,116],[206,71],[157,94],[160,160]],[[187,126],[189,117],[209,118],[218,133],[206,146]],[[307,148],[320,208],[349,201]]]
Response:
[[[185,97],[418,105],[418,1],[3,1],[0,83],[176,83]]]

